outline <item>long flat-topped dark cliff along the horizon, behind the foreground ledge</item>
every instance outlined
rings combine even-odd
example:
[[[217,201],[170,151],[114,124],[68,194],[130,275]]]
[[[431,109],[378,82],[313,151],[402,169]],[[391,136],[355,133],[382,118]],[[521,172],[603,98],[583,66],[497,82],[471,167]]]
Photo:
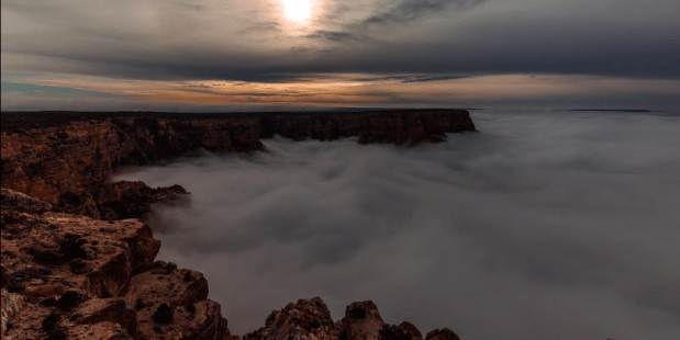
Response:
[[[31,115],[26,121],[25,116]],[[144,217],[151,205],[174,201],[176,185],[110,183],[115,170],[188,155],[263,150],[261,138],[296,140],[358,137],[363,144],[442,141],[473,131],[462,110],[361,113],[3,113],[2,188],[44,201],[56,212],[92,218]]]

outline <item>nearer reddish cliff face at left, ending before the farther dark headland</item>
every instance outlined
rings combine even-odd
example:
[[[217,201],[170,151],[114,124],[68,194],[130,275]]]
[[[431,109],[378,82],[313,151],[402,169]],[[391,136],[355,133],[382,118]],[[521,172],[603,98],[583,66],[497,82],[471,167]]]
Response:
[[[199,148],[259,150],[263,145],[257,126],[256,121],[242,118],[131,117],[71,122],[22,134],[3,132],[2,188],[26,193],[60,212],[93,218],[137,217],[135,213],[126,214],[123,205],[143,203],[143,197],[180,194],[183,190],[142,192],[146,185],[132,183],[112,186],[107,181],[114,169],[147,165]],[[144,206],[140,208],[144,211]]]

